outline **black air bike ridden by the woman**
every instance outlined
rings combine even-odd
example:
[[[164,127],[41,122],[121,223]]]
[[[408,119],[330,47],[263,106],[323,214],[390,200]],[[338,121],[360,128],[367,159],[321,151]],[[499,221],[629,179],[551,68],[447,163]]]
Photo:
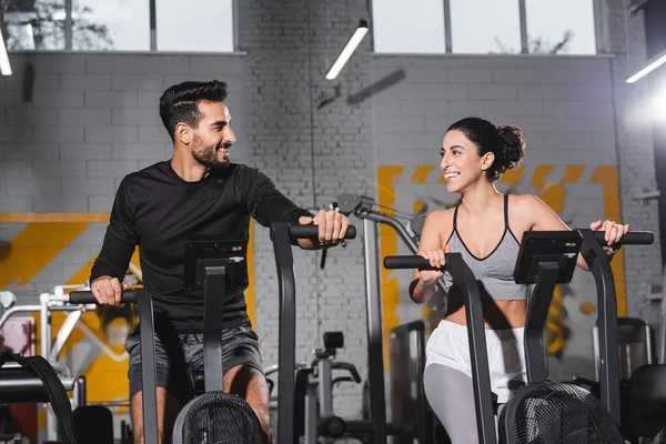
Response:
[[[653,242],[650,232],[628,232],[619,244],[647,245]],[[496,406],[491,389],[478,284],[460,253],[446,254],[443,271],[448,272],[461,289],[466,310],[480,443],[624,444],[619,428],[617,305],[613,271],[602,248],[605,243],[604,232],[589,229],[524,233],[514,280],[518,284],[534,284],[525,324],[527,383],[504,405],[498,418],[498,437],[495,433]],[[597,289],[601,355],[598,400],[578,385],[548,380],[544,346],[548,307],[555,285],[571,282],[578,253],[589,266]],[[385,256],[384,266],[433,270],[427,260],[417,255]]]

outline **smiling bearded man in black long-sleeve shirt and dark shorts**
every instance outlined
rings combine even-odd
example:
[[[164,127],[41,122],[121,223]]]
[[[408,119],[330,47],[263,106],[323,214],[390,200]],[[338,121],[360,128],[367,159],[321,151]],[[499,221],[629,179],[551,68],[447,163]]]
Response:
[[[236,139],[225,103],[226,84],[184,82],[160,99],[160,117],[173,140],[173,158],[125,176],[118,189],[111,220],[90,276],[99,303],[120,303],[124,273],[139,245],[143,283],[155,315],[155,367],[160,442],[171,442],[180,408],[193,395],[189,372],[203,371],[203,293],[183,283],[184,241],[189,235],[222,234],[248,239],[250,218],[317,224],[319,240],[301,240],[303,249],[340,242],[349,221],[334,211],[313,216],[275,189],[256,169],[230,162]],[[245,285],[226,295],[223,306],[224,390],[244,397],[260,418],[269,443],[269,391],[258,336],[246,314]],[[134,442],[143,443],[139,329],[125,341],[130,355],[130,407]]]

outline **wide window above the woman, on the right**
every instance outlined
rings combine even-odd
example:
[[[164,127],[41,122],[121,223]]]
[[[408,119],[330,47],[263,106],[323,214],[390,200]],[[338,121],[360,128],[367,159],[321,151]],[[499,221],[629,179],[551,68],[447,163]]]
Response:
[[[596,53],[594,0],[374,0],[372,28],[380,53]]]

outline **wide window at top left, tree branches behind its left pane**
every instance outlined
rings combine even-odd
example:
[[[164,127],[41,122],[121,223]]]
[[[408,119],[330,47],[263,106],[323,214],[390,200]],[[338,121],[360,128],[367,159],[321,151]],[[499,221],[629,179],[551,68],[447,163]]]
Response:
[[[14,50],[232,52],[233,1],[157,0],[154,42],[148,0],[4,0],[0,26]]]

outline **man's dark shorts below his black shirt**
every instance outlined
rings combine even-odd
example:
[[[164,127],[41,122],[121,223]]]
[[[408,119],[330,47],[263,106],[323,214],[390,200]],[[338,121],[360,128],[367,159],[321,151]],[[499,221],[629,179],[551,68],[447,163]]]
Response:
[[[259,336],[248,326],[222,331],[222,365],[224,371],[248,365],[263,373]],[[125,340],[130,355],[128,379],[130,400],[141,392],[141,340],[139,329]],[[203,372],[203,335],[155,335],[155,379],[184,405],[194,394],[192,372]]]

